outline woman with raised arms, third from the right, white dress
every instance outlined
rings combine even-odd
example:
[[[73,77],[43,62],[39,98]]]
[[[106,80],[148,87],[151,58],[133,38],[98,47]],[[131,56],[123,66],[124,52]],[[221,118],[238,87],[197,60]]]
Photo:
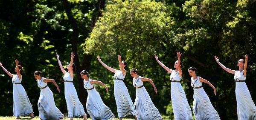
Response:
[[[183,64],[180,62],[180,52],[177,52],[178,60],[174,63],[175,70],[169,69],[163,63],[158,60],[158,56],[155,54],[155,59],[166,71],[171,73],[171,98],[172,109],[175,120],[192,120],[192,111],[190,109],[186,94],[180,84],[180,78],[182,76]]]

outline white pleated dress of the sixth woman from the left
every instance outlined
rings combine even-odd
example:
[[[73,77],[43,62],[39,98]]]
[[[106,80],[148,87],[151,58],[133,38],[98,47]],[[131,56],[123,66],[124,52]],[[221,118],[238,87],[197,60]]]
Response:
[[[133,78],[133,85],[136,88],[136,98],[134,108],[138,120],[162,120],[161,114],[154,106],[147,90],[143,85],[143,81],[139,76],[137,79]]]

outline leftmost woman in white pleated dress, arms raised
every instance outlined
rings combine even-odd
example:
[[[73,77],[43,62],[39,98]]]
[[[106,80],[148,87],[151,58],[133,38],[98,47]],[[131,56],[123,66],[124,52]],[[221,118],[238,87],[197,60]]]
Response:
[[[15,72],[16,74],[11,74],[7,71],[2,63],[0,66],[2,69],[12,77],[12,87],[13,87],[13,116],[16,116],[16,119],[20,119],[20,116],[26,116],[30,114],[31,118],[34,118],[33,109],[31,103],[29,101],[29,97],[26,94],[25,89],[21,85],[22,76],[20,72],[22,71],[22,66],[19,65],[19,61],[15,60],[16,67]]]

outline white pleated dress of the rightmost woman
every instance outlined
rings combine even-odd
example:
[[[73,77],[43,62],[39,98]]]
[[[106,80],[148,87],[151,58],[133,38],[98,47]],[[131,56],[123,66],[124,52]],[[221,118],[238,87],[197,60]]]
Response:
[[[235,71],[238,120],[256,120],[256,107],[248,90],[243,72]],[[239,82],[240,81],[240,82]]]

